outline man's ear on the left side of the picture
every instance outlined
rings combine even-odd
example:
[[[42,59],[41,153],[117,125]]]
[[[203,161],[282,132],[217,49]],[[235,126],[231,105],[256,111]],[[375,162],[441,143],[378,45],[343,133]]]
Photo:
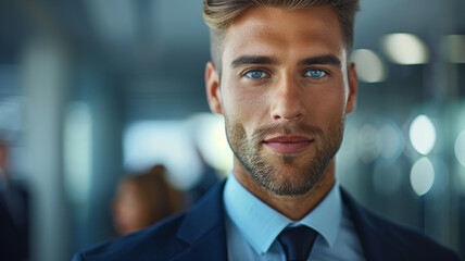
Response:
[[[219,77],[213,62],[208,62],[205,66],[205,87],[210,110],[214,113],[223,114]]]

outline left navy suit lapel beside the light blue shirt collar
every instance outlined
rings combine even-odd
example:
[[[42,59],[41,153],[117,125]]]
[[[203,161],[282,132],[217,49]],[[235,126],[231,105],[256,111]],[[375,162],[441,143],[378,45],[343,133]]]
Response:
[[[177,237],[190,246],[173,260],[227,260],[224,184],[216,185],[187,213]]]

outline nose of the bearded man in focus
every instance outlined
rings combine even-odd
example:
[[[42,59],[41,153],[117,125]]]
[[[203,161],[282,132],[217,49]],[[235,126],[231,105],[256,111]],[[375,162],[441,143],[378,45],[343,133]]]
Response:
[[[304,96],[293,77],[282,77],[272,98],[272,117],[275,121],[298,120],[304,115]]]

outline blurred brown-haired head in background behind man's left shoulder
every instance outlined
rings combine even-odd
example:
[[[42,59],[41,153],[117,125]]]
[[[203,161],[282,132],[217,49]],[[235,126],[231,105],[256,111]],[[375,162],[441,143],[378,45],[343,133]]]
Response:
[[[122,179],[113,204],[114,226],[120,236],[185,210],[184,194],[173,188],[165,175],[166,169],[155,165],[144,174]]]

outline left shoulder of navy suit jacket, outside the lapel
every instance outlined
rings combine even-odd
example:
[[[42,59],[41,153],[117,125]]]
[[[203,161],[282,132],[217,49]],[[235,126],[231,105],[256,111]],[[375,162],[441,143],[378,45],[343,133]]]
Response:
[[[176,237],[185,214],[178,214],[155,225],[123,237],[101,243],[76,253],[73,261],[169,260],[187,244]]]

